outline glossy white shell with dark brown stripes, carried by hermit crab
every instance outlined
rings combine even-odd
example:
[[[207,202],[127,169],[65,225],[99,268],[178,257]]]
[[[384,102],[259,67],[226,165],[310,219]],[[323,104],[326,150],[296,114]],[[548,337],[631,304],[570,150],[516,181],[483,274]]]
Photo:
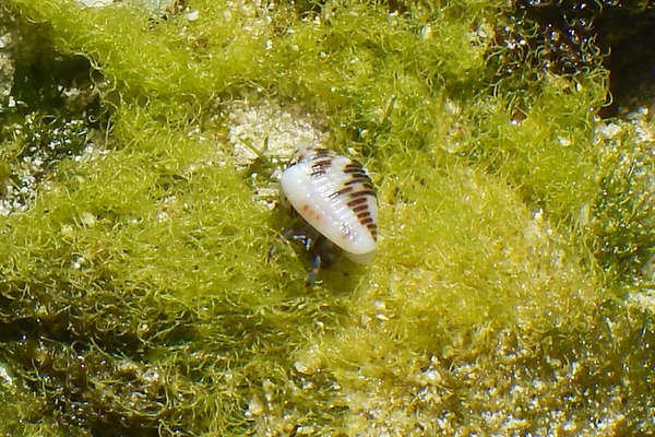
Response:
[[[327,149],[300,151],[279,184],[309,225],[353,261],[370,260],[378,244],[378,199],[361,164]]]

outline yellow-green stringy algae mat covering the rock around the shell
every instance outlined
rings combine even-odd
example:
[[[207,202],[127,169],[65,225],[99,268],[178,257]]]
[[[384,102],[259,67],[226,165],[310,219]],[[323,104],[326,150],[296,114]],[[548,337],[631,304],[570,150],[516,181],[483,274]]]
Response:
[[[597,140],[606,71],[495,81],[501,2],[186,4],[4,7],[47,42],[14,78],[41,92],[0,114],[7,178],[53,126],[99,133],[66,131],[0,217],[2,433],[654,430],[653,315],[624,299],[648,286],[653,161],[629,129]],[[62,103],[49,67],[80,57]],[[308,290],[303,253],[267,257],[285,218],[231,155],[242,95],[299,103],[367,165],[371,265]]]

